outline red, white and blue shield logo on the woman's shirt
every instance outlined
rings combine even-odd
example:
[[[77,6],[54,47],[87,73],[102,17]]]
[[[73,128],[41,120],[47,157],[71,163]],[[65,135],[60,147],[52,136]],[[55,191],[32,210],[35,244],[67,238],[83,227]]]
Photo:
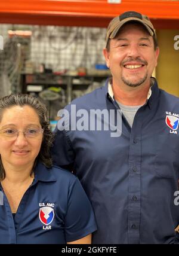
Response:
[[[49,206],[40,208],[39,219],[45,225],[51,224],[54,220],[54,209]]]

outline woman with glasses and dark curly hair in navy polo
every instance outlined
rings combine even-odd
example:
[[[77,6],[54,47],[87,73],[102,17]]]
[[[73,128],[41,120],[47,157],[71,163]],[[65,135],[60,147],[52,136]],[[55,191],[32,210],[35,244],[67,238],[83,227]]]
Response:
[[[0,243],[91,243],[90,202],[52,166],[47,109],[30,95],[0,100]]]

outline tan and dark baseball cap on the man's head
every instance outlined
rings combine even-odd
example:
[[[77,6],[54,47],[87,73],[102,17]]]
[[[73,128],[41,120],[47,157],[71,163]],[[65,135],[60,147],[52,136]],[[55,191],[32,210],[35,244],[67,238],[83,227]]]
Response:
[[[149,34],[151,36],[156,37],[155,29],[153,28],[152,23],[150,22],[149,18],[143,14],[137,13],[136,11],[126,11],[125,13],[122,13],[120,16],[115,17],[110,23],[107,28],[107,34],[106,34],[106,44],[110,39],[115,38],[117,35],[119,29],[127,23],[127,22],[140,22],[146,29],[149,31]]]

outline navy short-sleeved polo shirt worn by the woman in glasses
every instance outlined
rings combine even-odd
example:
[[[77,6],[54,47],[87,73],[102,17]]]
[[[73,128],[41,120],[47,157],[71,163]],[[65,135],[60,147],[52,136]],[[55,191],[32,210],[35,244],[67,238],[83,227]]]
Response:
[[[39,163],[13,220],[0,187],[0,243],[66,243],[96,230],[90,201],[78,178]]]

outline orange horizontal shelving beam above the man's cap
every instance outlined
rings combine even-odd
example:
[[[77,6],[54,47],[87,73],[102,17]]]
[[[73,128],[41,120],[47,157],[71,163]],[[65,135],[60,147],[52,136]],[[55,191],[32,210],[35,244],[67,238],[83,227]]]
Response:
[[[0,2],[0,23],[106,27],[128,10],[147,14],[157,28],[179,28],[179,1],[165,0],[6,0]]]

